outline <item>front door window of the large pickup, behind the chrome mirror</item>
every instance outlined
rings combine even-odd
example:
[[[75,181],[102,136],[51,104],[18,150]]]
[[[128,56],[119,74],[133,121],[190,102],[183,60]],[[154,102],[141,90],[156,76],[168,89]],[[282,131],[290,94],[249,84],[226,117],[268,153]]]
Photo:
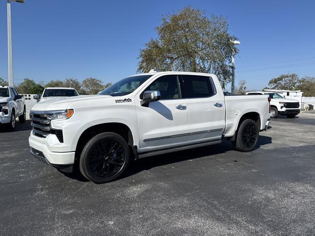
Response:
[[[159,90],[161,99],[181,98],[177,75],[166,75],[155,80],[145,91]]]

